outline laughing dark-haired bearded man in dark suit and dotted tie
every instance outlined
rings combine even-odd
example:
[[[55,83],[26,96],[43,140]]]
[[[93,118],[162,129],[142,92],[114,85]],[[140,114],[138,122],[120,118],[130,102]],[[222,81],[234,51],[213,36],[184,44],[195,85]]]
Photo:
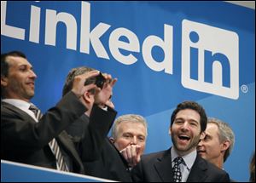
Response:
[[[229,174],[208,163],[196,152],[207,128],[207,114],[194,101],[184,101],[172,112],[169,133],[173,146],[142,157],[132,169],[134,181],[230,182]]]

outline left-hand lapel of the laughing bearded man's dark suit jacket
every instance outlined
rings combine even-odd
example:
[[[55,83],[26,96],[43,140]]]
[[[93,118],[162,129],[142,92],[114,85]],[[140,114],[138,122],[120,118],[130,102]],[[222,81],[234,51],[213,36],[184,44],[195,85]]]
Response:
[[[162,181],[172,182],[172,158],[170,149],[166,150],[163,156],[157,159],[157,162],[154,163],[154,169],[156,169]]]

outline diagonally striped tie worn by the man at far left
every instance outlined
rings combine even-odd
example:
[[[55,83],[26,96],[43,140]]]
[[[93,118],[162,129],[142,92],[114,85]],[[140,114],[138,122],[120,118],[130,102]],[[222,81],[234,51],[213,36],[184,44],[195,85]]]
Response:
[[[40,110],[38,109],[38,107],[36,107],[34,105],[31,105],[29,107],[29,110],[34,112],[35,117],[38,119],[38,121],[43,116],[42,113],[40,112]],[[64,157],[61,154],[60,146],[58,145],[55,138],[49,142],[49,147],[50,147],[51,151],[53,152],[53,154],[55,155],[56,162],[59,166],[59,169],[62,170],[62,171],[68,172],[69,170],[67,168],[67,164],[64,161]]]

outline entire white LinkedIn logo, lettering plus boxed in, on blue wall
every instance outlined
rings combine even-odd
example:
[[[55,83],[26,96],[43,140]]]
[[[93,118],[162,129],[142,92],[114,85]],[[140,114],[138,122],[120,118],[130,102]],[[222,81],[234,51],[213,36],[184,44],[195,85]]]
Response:
[[[126,66],[143,60],[146,66],[153,71],[173,74],[174,27],[172,25],[164,24],[161,36],[138,37],[136,32],[128,28],[115,27],[104,22],[91,27],[91,9],[88,2],[81,2],[80,17],[67,12],[57,12],[55,9],[42,11],[43,9],[39,6],[31,5],[29,27],[8,25],[7,2],[2,1],[1,35],[55,47],[56,37],[59,34],[57,25],[61,22],[67,27],[67,49],[83,54],[91,54],[93,50],[97,58],[110,60],[113,57],[114,60]],[[41,14],[45,14],[44,21],[41,20]],[[41,31],[40,29],[43,28],[44,31]],[[29,36],[25,37],[26,34]],[[108,38],[108,44],[102,43],[103,36]],[[121,37],[125,37],[128,41],[122,40]],[[238,45],[238,36],[234,31],[183,20],[181,61],[183,87],[234,100],[238,99]],[[162,60],[154,59],[152,51],[154,47],[162,49],[164,54]],[[124,52],[120,50],[125,50],[128,54],[123,54]],[[140,54],[143,59],[139,58]]]

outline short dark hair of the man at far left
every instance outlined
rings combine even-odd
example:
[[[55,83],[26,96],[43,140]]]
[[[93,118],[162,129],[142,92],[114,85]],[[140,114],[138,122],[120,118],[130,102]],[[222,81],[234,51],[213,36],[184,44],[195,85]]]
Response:
[[[8,77],[9,75],[9,63],[7,61],[7,57],[9,56],[21,57],[26,59],[26,55],[20,51],[11,51],[6,54],[1,54],[1,78]],[[3,98],[3,95],[4,95],[3,93],[4,93],[4,89],[1,85],[1,99]]]

